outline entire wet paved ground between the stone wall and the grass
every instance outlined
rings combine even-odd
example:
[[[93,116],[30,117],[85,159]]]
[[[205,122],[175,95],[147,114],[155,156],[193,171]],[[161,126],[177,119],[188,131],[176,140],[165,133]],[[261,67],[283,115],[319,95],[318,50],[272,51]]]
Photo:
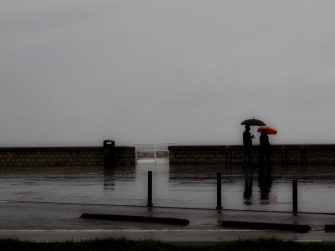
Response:
[[[103,166],[2,167],[0,237],[40,241],[124,236],[205,243],[276,236],[299,241],[334,241],[335,232],[323,230],[325,224],[335,224],[333,168],[332,165],[229,168],[167,162],[107,169]],[[154,207],[145,206],[149,170],[153,172]],[[214,209],[216,172],[222,173],[225,210]],[[292,179],[298,180],[297,214],[291,212]],[[190,223],[87,219],[80,218],[82,213],[177,217]],[[222,227],[222,220],[307,224],[312,229],[307,233],[236,229]]]

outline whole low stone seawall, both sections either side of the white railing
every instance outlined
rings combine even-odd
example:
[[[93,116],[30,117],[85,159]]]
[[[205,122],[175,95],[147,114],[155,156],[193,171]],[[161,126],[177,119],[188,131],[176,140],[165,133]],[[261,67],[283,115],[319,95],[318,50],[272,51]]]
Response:
[[[242,145],[177,146],[169,149],[170,163],[231,163],[241,164]],[[257,146],[253,146],[255,162],[258,162]],[[300,164],[335,164],[335,144],[272,145],[271,161]],[[116,146],[116,164],[135,164],[135,147]],[[0,148],[0,166],[47,165],[103,165],[104,148],[96,147],[6,147]]]

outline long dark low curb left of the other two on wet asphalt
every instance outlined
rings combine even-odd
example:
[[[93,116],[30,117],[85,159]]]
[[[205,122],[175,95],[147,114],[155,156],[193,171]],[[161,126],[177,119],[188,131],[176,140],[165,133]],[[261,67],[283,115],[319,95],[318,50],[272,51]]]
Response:
[[[93,219],[108,219],[108,220],[129,220],[129,221],[145,221],[165,224],[189,224],[188,219],[180,218],[164,218],[164,217],[147,217],[147,216],[133,216],[133,215],[120,215],[120,214],[92,214],[83,213],[81,218]]]

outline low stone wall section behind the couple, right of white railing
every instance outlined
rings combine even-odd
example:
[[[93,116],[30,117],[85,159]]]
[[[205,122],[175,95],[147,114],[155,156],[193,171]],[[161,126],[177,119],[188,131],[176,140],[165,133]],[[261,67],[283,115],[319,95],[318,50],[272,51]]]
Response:
[[[242,164],[243,145],[203,145],[177,146],[169,149],[170,163],[231,163]],[[258,162],[257,146],[253,146],[255,162]],[[335,163],[335,144],[308,144],[308,145],[272,145],[272,163],[285,163],[287,152],[288,164],[307,163]]]

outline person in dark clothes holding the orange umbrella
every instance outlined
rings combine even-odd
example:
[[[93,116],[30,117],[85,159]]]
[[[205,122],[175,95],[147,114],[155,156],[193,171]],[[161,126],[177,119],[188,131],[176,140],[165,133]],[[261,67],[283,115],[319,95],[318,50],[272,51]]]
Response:
[[[277,134],[277,130],[275,128],[272,128],[270,126],[260,126],[257,129],[258,132],[260,132],[259,137],[259,146],[258,146],[258,155],[259,155],[259,164],[264,165],[264,156],[266,157],[266,163],[269,167],[271,165],[271,144],[269,142],[268,134]]]

